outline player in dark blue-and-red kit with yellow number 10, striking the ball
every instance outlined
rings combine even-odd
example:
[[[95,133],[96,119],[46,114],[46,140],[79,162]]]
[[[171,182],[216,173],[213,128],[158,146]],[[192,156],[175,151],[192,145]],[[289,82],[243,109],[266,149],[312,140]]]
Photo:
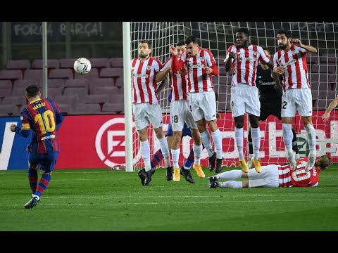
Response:
[[[41,93],[35,85],[25,89],[26,98],[30,102],[20,114],[21,128],[11,124],[12,132],[27,138],[32,130],[32,140],[27,146],[29,162],[28,181],[32,190],[32,198],[25,204],[25,209],[37,205],[44,190],[49,186],[51,173],[58,158],[58,129],[63,121],[63,115],[50,98],[40,98]],[[37,183],[37,167],[44,171],[39,184]]]

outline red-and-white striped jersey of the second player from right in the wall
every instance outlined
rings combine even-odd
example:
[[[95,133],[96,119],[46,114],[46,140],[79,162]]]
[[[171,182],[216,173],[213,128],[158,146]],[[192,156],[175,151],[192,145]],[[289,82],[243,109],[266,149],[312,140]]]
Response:
[[[265,55],[263,48],[251,44],[246,48],[232,45],[227,48],[227,58],[230,52],[234,52],[236,55],[232,60],[231,85],[237,86],[237,84],[242,83],[256,86],[258,60],[263,64],[270,61],[268,56]],[[225,61],[227,58],[225,58]]]

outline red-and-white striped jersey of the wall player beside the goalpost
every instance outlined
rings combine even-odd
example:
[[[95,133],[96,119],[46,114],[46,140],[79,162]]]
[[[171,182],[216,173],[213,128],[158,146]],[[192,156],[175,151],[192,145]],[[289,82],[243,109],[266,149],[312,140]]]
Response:
[[[132,65],[132,103],[158,104],[156,94],[156,74],[162,68],[162,63],[154,57],[149,57],[142,63],[139,58],[131,61]]]

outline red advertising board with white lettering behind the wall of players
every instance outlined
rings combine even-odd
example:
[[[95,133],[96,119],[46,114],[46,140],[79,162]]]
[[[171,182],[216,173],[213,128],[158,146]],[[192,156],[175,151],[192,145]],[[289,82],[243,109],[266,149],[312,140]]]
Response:
[[[330,155],[333,162],[338,162],[338,144],[325,144],[332,139],[338,139],[338,112],[332,112],[330,122],[324,124],[321,115],[324,112],[314,112],[313,125],[317,132],[318,154],[325,148],[332,148],[335,153]],[[237,150],[234,146],[234,124],[230,112],[222,113],[218,121],[220,131],[223,132],[223,157],[225,165],[232,165],[237,161]],[[169,115],[165,115],[164,122],[168,122]],[[294,120],[294,129],[299,137],[301,157],[308,155],[306,148],[306,134],[300,117]],[[164,129],[167,125],[165,124]],[[246,124],[244,124],[244,146],[246,147]],[[61,152],[56,163],[56,169],[104,168],[125,164],[125,119],[124,115],[78,115],[66,116],[59,131]],[[268,117],[261,123],[261,159],[262,163],[279,163],[284,158],[284,143],[282,141],[282,123],[275,117]],[[141,154],[137,134],[133,136],[134,166],[142,167]],[[151,154],[158,149],[158,141],[153,131],[149,130],[149,141],[154,148]],[[192,140],[183,138],[181,145],[181,159],[189,155]],[[246,148],[244,150],[246,152]],[[324,151],[323,151],[324,152]],[[204,151],[201,163],[208,164],[207,154]]]

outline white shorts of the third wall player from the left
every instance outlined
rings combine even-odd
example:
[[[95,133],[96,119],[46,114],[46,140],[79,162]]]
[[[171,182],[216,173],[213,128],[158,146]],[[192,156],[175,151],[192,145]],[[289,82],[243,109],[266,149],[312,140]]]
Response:
[[[216,119],[216,97],[214,91],[190,93],[190,106],[194,121]]]

